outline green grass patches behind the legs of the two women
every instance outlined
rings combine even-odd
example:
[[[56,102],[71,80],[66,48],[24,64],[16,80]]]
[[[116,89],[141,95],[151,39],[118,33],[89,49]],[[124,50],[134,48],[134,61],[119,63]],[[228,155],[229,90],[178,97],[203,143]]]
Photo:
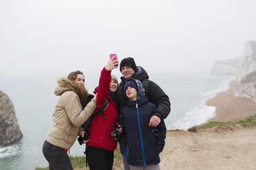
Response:
[[[119,145],[114,151],[114,158],[119,159],[121,158],[120,150],[119,150]],[[70,156],[70,161],[72,163],[72,167],[74,169],[78,168],[84,168],[85,167],[85,156]],[[36,167],[35,170],[49,170],[49,167]]]

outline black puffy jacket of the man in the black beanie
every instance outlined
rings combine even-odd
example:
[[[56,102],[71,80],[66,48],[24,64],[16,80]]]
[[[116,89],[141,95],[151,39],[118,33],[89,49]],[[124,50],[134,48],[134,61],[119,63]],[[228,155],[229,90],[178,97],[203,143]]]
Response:
[[[161,120],[167,118],[171,111],[171,103],[169,97],[164,93],[162,88],[158,84],[149,80],[149,75],[145,69],[141,66],[137,66],[136,74],[132,75],[131,78],[140,80],[145,88],[145,94],[149,101],[156,105],[156,111],[153,115],[160,117]],[[118,106],[121,109],[127,104],[127,97],[125,95],[125,79],[121,77],[122,82],[118,84]]]

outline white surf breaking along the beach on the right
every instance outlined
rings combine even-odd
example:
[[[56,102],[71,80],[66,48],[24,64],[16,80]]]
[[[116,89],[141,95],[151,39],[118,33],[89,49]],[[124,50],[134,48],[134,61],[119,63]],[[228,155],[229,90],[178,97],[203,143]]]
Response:
[[[168,130],[187,130],[190,127],[195,125],[201,125],[202,123],[206,123],[212,117],[215,117],[215,107],[213,106],[206,106],[206,101],[215,97],[217,93],[221,93],[223,91],[228,90],[228,84],[234,79],[226,80],[222,82],[219,88],[216,90],[211,91],[210,93],[204,94],[204,99],[200,101],[198,106],[190,112],[185,114],[183,119],[178,119],[177,121],[173,122],[172,125],[167,127]]]

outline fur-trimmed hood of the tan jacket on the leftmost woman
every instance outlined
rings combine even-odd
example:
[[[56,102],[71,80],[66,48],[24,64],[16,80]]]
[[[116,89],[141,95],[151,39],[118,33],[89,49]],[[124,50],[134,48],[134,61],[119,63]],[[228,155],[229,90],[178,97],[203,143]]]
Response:
[[[62,95],[68,90],[74,91],[74,93],[78,94],[78,87],[71,80],[66,77],[61,77],[57,80],[58,87],[54,90],[54,95]]]

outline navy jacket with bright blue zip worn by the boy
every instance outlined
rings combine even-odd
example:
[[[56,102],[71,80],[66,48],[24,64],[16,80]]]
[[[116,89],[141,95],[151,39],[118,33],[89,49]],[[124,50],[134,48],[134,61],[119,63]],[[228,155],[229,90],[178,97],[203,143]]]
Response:
[[[120,124],[123,128],[120,135],[121,154],[128,157],[129,165],[156,165],[160,162],[159,154],[164,148],[167,129],[164,121],[157,127],[149,126],[156,106],[145,96],[141,82],[134,81],[138,85],[138,99],[129,100],[127,106],[120,110]]]

